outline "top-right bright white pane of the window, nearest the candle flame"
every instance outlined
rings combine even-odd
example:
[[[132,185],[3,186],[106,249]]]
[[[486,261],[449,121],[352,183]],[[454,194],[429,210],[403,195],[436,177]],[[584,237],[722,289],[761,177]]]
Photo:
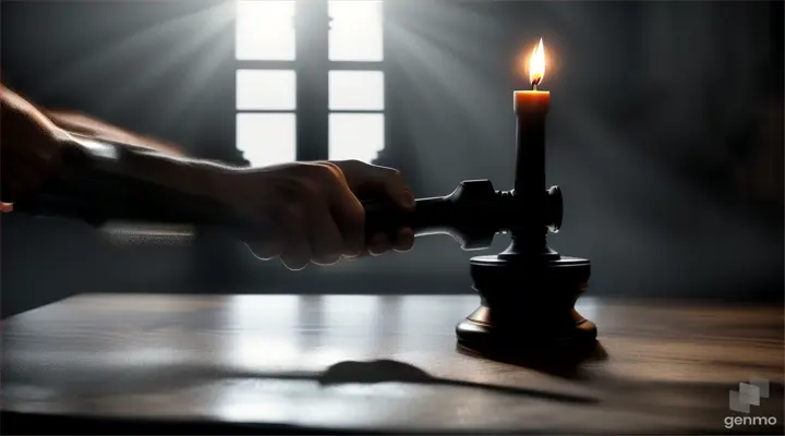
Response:
[[[382,1],[330,0],[329,59],[376,62],[384,59]]]

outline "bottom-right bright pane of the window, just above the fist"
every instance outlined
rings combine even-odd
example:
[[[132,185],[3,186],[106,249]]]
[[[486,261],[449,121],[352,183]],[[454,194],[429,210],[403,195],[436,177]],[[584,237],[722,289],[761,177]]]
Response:
[[[329,158],[373,162],[384,149],[382,113],[330,113]]]

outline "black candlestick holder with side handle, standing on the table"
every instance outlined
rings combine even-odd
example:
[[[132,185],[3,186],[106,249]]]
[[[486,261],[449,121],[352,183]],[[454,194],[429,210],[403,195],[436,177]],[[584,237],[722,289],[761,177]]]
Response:
[[[545,189],[547,106],[516,106],[515,189],[495,191],[488,180],[464,181],[446,197],[422,198],[413,214],[366,204],[370,232],[407,225],[415,234],[449,233],[464,250],[485,249],[494,234],[509,233],[503,253],[469,262],[480,307],[456,327],[458,344],[507,356],[531,348],[593,344],[595,325],[575,308],[585,291],[591,263],[548,245],[561,227],[561,191]]]

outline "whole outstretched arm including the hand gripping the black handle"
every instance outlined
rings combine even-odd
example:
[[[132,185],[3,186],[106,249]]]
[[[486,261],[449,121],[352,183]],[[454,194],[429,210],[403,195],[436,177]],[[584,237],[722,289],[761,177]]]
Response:
[[[391,239],[384,234],[365,239],[358,195],[413,207],[411,193],[396,170],[355,161],[232,168],[150,147],[107,143],[95,130],[92,135],[73,124],[71,131],[63,129],[69,124],[60,120],[58,125],[5,88],[2,99],[3,203],[35,198],[52,184],[100,180],[94,184],[98,191],[110,191],[123,202],[133,199],[131,208],[149,207],[149,195],[164,198],[157,204],[194,221],[208,216],[247,223],[242,238],[254,253],[262,258],[280,257],[291,269],[309,263],[333,264],[364,251],[408,250],[413,243],[408,229]],[[253,231],[256,223],[268,231]]]

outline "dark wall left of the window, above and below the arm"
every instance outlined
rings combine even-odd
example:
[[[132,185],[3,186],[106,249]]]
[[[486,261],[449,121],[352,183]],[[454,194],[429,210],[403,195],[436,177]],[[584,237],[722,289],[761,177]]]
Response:
[[[232,13],[216,0],[2,2],[2,81],[46,108],[221,157],[234,142]],[[203,280],[193,244],[118,246],[81,223],[15,214],[1,225],[4,315],[77,292],[183,292]]]

